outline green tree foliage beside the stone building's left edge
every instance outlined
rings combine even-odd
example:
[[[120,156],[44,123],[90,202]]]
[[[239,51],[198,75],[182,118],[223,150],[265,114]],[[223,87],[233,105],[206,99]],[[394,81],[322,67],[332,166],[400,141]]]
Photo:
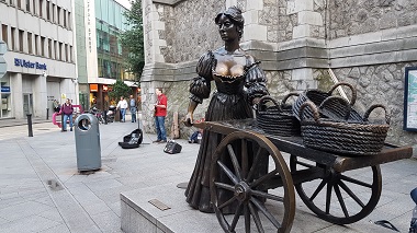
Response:
[[[139,82],[145,66],[142,0],[132,0],[131,3],[131,9],[124,12],[129,30],[121,34],[121,43],[128,50],[128,70]]]

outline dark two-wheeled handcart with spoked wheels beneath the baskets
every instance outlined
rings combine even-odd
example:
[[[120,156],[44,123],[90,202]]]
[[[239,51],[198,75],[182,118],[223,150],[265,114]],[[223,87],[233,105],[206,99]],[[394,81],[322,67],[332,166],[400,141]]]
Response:
[[[342,156],[306,148],[301,137],[266,135],[255,125],[253,119],[194,125],[224,137],[212,158],[210,189],[225,232],[290,232],[294,187],[318,218],[335,224],[357,222],[371,213],[380,199],[380,164],[413,154],[410,147],[385,144],[377,155]],[[291,154],[291,172],[280,151]],[[268,171],[256,177],[266,159]],[[219,200],[219,191],[230,193],[230,198]],[[229,205],[237,205],[235,213],[223,213]]]

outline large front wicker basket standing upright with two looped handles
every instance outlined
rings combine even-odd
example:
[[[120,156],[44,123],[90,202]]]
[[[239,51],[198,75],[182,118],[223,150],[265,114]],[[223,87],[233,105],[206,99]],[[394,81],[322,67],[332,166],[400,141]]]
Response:
[[[373,109],[385,110],[386,124],[370,124],[368,118]],[[362,124],[335,121],[320,118],[316,105],[306,102],[300,107],[300,115],[309,108],[313,118],[302,118],[301,131],[306,147],[346,155],[374,155],[381,152],[390,129],[390,115],[384,105],[372,105],[363,116]]]

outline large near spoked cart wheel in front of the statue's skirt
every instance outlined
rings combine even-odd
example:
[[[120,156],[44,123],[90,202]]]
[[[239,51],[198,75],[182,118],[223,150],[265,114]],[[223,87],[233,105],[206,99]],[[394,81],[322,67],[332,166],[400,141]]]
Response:
[[[244,131],[226,136],[213,155],[210,190],[225,232],[291,231],[293,180],[280,151],[266,137]]]

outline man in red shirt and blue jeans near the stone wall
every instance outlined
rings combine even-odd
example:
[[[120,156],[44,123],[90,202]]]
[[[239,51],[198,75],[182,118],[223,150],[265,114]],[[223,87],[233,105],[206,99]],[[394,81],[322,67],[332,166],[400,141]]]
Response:
[[[155,127],[157,131],[157,140],[154,142],[167,142],[167,132],[165,130],[165,117],[167,116],[167,96],[162,94],[162,89],[155,89],[157,94],[157,103],[155,104]]]

